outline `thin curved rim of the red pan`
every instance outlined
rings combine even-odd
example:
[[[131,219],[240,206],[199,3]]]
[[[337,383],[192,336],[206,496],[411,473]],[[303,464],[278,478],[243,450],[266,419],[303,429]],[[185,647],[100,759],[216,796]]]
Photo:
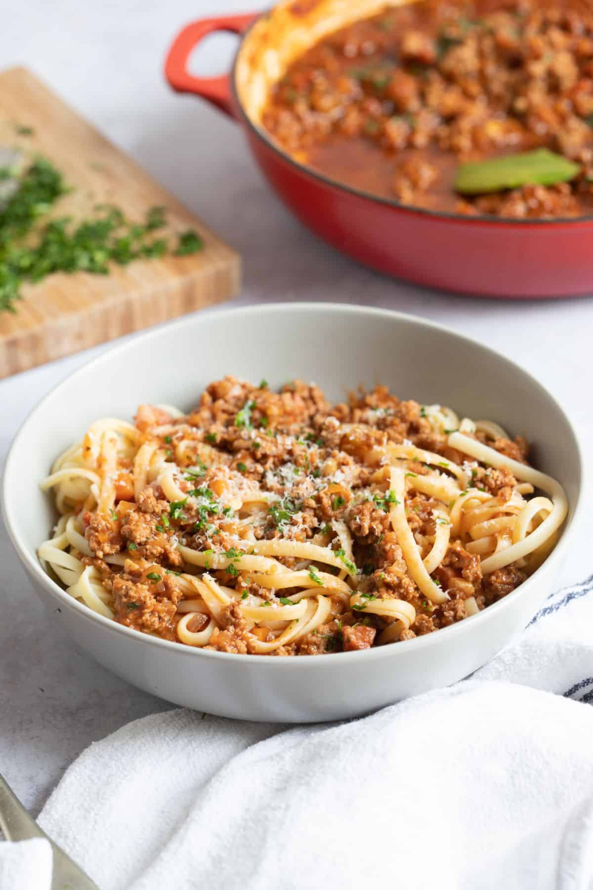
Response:
[[[451,222],[454,221],[456,223],[463,223],[465,225],[471,225],[472,223],[481,223],[482,225],[492,226],[512,225],[516,228],[532,228],[533,226],[549,228],[550,226],[555,225],[574,226],[578,224],[582,225],[586,223],[593,223],[593,214],[587,214],[585,216],[555,216],[551,219],[540,218],[519,220],[513,216],[492,216],[488,214],[455,214],[445,210],[430,210],[425,207],[403,204],[401,201],[398,201],[397,198],[385,198],[381,195],[374,195],[372,191],[356,189],[354,186],[349,185],[347,182],[341,182],[341,180],[339,179],[334,179],[333,176],[321,173],[312,166],[301,164],[299,161],[296,161],[294,158],[292,158],[288,151],[285,151],[283,148],[281,148],[281,146],[271,137],[271,135],[268,134],[266,130],[263,129],[263,127],[253,123],[251,117],[244,109],[244,104],[241,101],[236,86],[236,68],[238,59],[244,47],[245,41],[249,38],[252,32],[252,28],[254,28],[261,19],[269,18],[275,11],[276,7],[282,5],[284,2],[285,0],[279,0],[279,2],[273,4],[269,9],[260,12],[260,14],[252,20],[251,24],[247,28],[245,28],[244,32],[241,35],[241,39],[239,40],[239,44],[236,48],[236,53],[233,58],[233,64],[228,80],[230,83],[231,94],[235,101],[235,106],[237,109],[239,109],[241,122],[254,136],[257,136],[261,140],[261,142],[264,142],[268,146],[268,149],[274,152],[277,158],[280,158],[282,161],[284,161],[285,164],[287,164],[288,166],[292,166],[295,171],[309,176],[309,178],[317,180],[317,182],[323,183],[326,187],[344,191],[347,194],[351,195],[353,198],[363,198],[365,200],[372,201],[375,204],[392,207],[394,210],[401,210],[410,214],[419,214],[437,220]],[[413,2],[413,0],[407,0],[407,2]],[[360,20],[364,20],[364,16],[361,16]],[[337,30],[339,30],[339,28]]]

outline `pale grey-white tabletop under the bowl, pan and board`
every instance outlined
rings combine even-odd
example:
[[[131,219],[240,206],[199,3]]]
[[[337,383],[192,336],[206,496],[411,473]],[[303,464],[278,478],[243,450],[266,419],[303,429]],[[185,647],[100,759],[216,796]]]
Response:
[[[44,77],[236,247],[244,256],[238,302],[368,303],[440,321],[537,376],[564,404],[590,455],[591,299],[477,300],[365,271],[325,247],[280,206],[247,155],[236,125],[164,84],[164,53],[183,24],[207,14],[252,9],[251,3],[237,0],[26,0],[11,4],[10,14],[5,10],[2,17],[0,66],[26,64]],[[225,69],[234,44],[232,37],[204,44],[194,60],[196,73]],[[104,348],[0,382],[3,462],[12,436],[36,402]],[[565,584],[590,574],[588,524],[585,511]],[[0,528],[0,769],[23,802],[38,810],[86,745],[134,717],[168,707],[80,655],[46,622]]]

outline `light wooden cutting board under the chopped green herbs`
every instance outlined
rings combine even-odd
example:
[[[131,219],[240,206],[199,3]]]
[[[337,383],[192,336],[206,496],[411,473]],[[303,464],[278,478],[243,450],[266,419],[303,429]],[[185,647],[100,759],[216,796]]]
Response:
[[[151,206],[164,205],[158,237],[173,245],[176,232],[193,229],[204,239],[194,255],[113,264],[109,275],[58,272],[24,286],[16,314],[0,312],[0,378],[236,294],[236,252],[27,69],[0,74],[0,146],[44,155],[60,170],[73,191],[54,215],[84,219],[113,204],[141,223]]]

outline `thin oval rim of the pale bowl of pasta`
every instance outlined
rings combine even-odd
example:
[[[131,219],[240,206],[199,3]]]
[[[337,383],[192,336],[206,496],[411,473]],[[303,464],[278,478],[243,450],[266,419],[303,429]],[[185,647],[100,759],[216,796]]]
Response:
[[[529,380],[530,384],[533,384],[536,388],[540,389],[546,397],[552,401],[557,410],[560,412],[562,417],[565,419],[565,424],[573,435],[573,441],[576,449],[576,457],[578,462],[578,470],[580,476],[580,485],[576,493],[576,498],[573,504],[569,501],[569,506],[573,506],[573,515],[568,520],[565,521],[565,528],[562,533],[562,537],[558,541],[557,545],[554,547],[553,551],[549,554],[544,562],[542,562],[541,566],[533,572],[533,575],[527,578],[523,584],[517,587],[514,591],[512,591],[509,595],[504,596],[497,603],[493,603],[490,606],[487,606],[483,611],[480,611],[477,615],[469,616],[472,620],[485,622],[489,619],[489,616],[494,616],[503,610],[509,609],[512,603],[517,599],[517,596],[522,595],[525,592],[526,586],[532,586],[533,581],[538,578],[541,573],[548,571],[552,565],[557,564],[562,556],[565,554],[566,547],[568,546],[571,538],[573,538],[574,528],[576,524],[576,520],[581,513],[582,509],[582,492],[584,490],[584,460],[583,460],[583,450],[581,448],[581,441],[579,439],[579,434],[574,428],[574,425],[565,413],[565,410],[562,406],[557,402],[556,398],[543,386],[529,371],[522,368],[517,362],[508,359],[506,356],[502,355],[500,352],[496,352],[496,350],[491,349],[491,347],[486,346],[484,344],[479,343],[479,341],[474,340],[472,337],[465,336],[460,334],[458,331],[453,330],[452,328],[447,328],[445,325],[439,324],[436,321],[431,321],[427,319],[420,318],[415,315],[411,315],[407,312],[397,312],[395,310],[382,309],[374,306],[364,306],[357,303],[352,304],[341,304],[341,303],[314,303],[314,302],[297,302],[297,303],[259,303],[255,305],[246,305],[246,306],[227,306],[224,308],[216,308],[207,312],[196,312],[193,318],[188,319],[188,316],[182,316],[180,319],[173,320],[164,325],[159,325],[156,328],[149,328],[148,330],[140,333],[140,335],[136,335],[133,339],[125,338],[122,343],[116,344],[112,346],[110,349],[107,349],[105,352],[102,352],[99,356],[96,356],[92,360],[84,362],[84,364],[80,368],[76,368],[72,374],[65,376],[58,384],[52,386],[49,392],[46,392],[45,395],[37,401],[35,407],[28,413],[28,416],[20,425],[17,433],[15,434],[10,449],[8,451],[8,455],[6,457],[6,462],[4,464],[4,478],[2,485],[2,514],[4,517],[4,524],[6,526],[6,530],[8,531],[8,536],[12,542],[12,546],[14,547],[17,555],[20,558],[20,562],[23,563],[25,570],[28,572],[28,576],[33,578],[37,583],[39,583],[45,590],[51,594],[54,599],[60,601],[65,606],[68,607],[69,610],[75,611],[80,617],[87,620],[87,622],[91,622],[92,624],[96,624],[99,627],[105,627],[110,629],[113,633],[124,635],[124,637],[132,638],[137,643],[146,643],[147,645],[156,646],[158,648],[163,648],[164,651],[171,651],[172,653],[177,653],[178,655],[183,655],[186,658],[209,658],[209,659],[231,659],[231,663],[236,662],[237,667],[239,665],[257,663],[257,664],[276,664],[278,666],[282,665],[291,665],[291,664],[299,664],[302,667],[299,667],[299,670],[307,669],[305,666],[311,667],[312,665],[317,664],[317,659],[315,658],[299,658],[296,656],[288,656],[286,658],[270,658],[268,655],[256,655],[256,654],[241,654],[235,652],[219,652],[212,650],[204,650],[198,649],[196,647],[183,645],[182,643],[178,643],[176,641],[163,640],[157,636],[151,636],[148,634],[144,634],[141,631],[134,630],[132,627],[124,627],[124,625],[118,624],[113,619],[105,618],[100,615],[98,612],[92,611],[88,606],[84,603],[79,603],[72,596],[69,596],[66,591],[60,587],[60,585],[51,578],[50,575],[44,570],[41,562],[35,554],[31,555],[28,550],[28,545],[26,542],[20,537],[20,532],[13,526],[12,519],[8,511],[8,490],[10,487],[10,480],[12,473],[15,471],[12,469],[13,465],[16,464],[18,459],[18,454],[20,451],[20,442],[26,440],[28,434],[28,425],[31,423],[32,419],[36,416],[36,413],[39,409],[44,406],[44,403],[53,397],[54,393],[60,390],[60,387],[66,384],[67,381],[72,379],[72,377],[83,374],[92,368],[100,368],[100,366],[105,363],[108,364],[114,357],[114,355],[118,355],[122,352],[125,352],[132,344],[138,343],[146,343],[147,341],[157,339],[159,336],[163,336],[166,332],[170,332],[175,330],[176,328],[187,327],[188,322],[193,323],[197,326],[207,322],[210,318],[224,318],[226,316],[241,316],[247,314],[266,314],[267,312],[280,312],[287,315],[296,314],[296,313],[315,313],[315,312],[334,312],[349,315],[353,320],[356,320],[357,317],[371,315],[376,318],[381,318],[389,321],[405,321],[412,322],[413,325],[419,326],[421,328],[429,328],[434,331],[444,332],[448,336],[456,337],[463,344],[469,344],[473,347],[477,347],[479,350],[483,352],[489,353],[496,360],[503,361],[508,363],[510,368],[512,368],[516,373],[520,375],[524,375]],[[41,541],[39,542],[41,544]],[[410,648],[413,647],[413,651],[420,652],[422,649],[427,647],[444,644],[446,640],[453,640],[455,635],[463,635],[469,632],[467,621],[469,619],[464,619],[463,621],[458,621],[449,627],[441,627],[438,629],[436,633],[426,634],[414,637],[411,640],[403,640],[397,643],[397,646],[377,646],[371,649],[363,650],[363,651],[349,651],[349,652],[334,652],[332,659],[323,659],[323,663],[326,661],[330,661],[334,664],[335,667],[335,658],[339,657],[341,659],[338,664],[341,664],[344,659],[383,659],[387,657],[393,657],[396,652],[407,652],[410,651]],[[329,653],[332,654],[332,653]],[[255,660],[254,660],[255,659]],[[278,669],[283,669],[279,667]]]

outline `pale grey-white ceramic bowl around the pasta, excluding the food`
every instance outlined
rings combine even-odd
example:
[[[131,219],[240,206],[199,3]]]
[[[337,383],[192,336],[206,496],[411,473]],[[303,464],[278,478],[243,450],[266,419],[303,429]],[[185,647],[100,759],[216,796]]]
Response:
[[[192,407],[225,374],[271,386],[300,376],[331,399],[358,384],[450,405],[525,433],[533,459],[565,487],[562,538],[521,587],[437,633],[367,651],[269,658],[191,649],[122,627],[77,603],[49,578],[36,548],[55,515],[38,489],[53,459],[99,417],[132,416],[142,401]],[[37,593],[102,665],[163,699],[212,714],[286,722],[363,715],[469,675],[525,627],[553,588],[581,491],[573,427],[541,385],[507,359],[453,331],[397,312],[294,303],[196,314],[116,346],[44,398],[17,434],[4,473],[5,521]],[[23,601],[23,608],[26,605]]]

